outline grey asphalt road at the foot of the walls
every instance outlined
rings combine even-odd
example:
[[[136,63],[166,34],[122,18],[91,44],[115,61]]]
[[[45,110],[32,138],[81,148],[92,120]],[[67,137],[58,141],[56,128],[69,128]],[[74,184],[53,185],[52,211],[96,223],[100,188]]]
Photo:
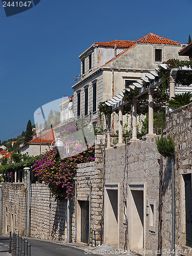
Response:
[[[27,239],[31,244],[31,256],[85,256],[83,250],[58,243]],[[0,236],[0,255],[9,254],[9,238]]]

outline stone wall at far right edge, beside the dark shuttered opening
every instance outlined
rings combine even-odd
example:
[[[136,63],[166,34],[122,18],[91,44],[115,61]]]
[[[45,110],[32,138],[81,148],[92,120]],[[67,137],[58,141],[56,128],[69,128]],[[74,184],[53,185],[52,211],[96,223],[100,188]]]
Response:
[[[167,114],[167,134],[175,143],[176,248],[186,245],[184,175],[191,174],[192,104]],[[191,254],[189,254],[191,255]]]

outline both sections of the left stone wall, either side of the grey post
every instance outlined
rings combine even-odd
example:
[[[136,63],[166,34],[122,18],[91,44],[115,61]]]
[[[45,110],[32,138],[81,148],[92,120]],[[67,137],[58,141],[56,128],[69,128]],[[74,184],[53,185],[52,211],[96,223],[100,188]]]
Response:
[[[9,231],[25,235],[26,184],[2,183],[3,222],[2,233]],[[31,228],[33,238],[66,239],[66,201],[55,200],[44,183],[31,184]]]

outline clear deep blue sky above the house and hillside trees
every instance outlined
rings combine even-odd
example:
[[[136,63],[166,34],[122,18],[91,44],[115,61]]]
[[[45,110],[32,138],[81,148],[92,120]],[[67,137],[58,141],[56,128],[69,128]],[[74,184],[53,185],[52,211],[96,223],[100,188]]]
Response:
[[[13,1],[13,0],[12,0]],[[41,0],[6,17],[0,3],[0,139],[26,130],[39,106],[71,96],[78,56],[94,41],[137,40],[152,32],[187,43],[192,2]]]

